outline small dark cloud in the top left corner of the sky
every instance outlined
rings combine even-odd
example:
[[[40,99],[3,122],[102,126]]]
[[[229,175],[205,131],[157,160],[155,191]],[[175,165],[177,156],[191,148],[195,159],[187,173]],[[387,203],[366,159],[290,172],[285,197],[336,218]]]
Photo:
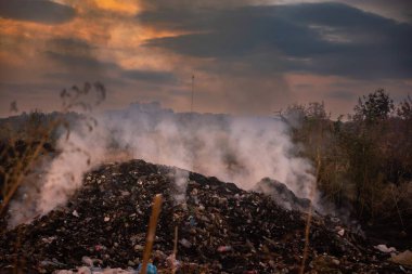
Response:
[[[0,16],[42,24],[61,24],[73,19],[73,8],[47,0],[0,0]]]

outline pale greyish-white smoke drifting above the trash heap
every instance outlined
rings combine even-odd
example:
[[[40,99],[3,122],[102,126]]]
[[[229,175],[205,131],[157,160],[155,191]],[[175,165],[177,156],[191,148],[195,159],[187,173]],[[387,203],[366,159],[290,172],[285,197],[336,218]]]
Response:
[[[132,104],[95,117],[92,131],[79,125],[62,136],[62,153],[51,162],[37,205],[46,213],[63,205],[81,185],[85,172],[127,153],[131,158],[175,166],[234,182],[250,190],[269,177],[309,198],[311,165],[297,156],[287,126],[271,117],[181,114],[157,103]],[[176,174],[176,200],[184,201],[188,172]]]

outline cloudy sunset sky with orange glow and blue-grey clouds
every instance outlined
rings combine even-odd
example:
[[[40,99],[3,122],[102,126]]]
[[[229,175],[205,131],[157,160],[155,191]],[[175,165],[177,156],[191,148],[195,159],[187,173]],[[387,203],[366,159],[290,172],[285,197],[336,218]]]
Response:
[[[0,0],[0,116],[61,108],[101,81],[103,108],[158,101],[270,115],[324,101],[350,113],[385,88],[412,94],[410,0]]]

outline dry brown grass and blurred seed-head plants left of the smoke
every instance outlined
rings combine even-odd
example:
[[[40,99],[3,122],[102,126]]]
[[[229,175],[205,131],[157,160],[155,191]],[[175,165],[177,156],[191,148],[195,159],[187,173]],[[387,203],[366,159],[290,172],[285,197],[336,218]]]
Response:
[[[55,153],[54,147],[60,134],[68,136],[70,122],[82,119],[90,130],[95,120],[87,114],[105,100],[105,88],[100,82],[86,82],[82,88],[74,86],[61,92],[62,110],[43,114],[34,110],[0,121],[0,224],[5,225],[8,206],[22,185],[24,178],[35,171],[42,156]],[[72,110],[81,109],[82,115]],[[12,102],[11,110],[17,104]]]

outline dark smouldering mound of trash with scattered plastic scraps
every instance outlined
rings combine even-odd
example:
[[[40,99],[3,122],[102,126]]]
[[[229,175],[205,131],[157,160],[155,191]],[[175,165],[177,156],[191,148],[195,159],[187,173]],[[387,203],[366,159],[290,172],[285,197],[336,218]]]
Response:
[[[15,268],[24,273],[103,273],[105,268],[134,273],[155,194],[164,197],[152,257],[158,273],[171,273],[175,227],[177,273],[299,273],[306,213],[197,173],[188,173],[185,199],[178,203],[180,171],[132,160],[87,173],[67,205],[1,233],[1,273]],[[412,270],[389,258],[338,219],[313,216],[305,273]]]

